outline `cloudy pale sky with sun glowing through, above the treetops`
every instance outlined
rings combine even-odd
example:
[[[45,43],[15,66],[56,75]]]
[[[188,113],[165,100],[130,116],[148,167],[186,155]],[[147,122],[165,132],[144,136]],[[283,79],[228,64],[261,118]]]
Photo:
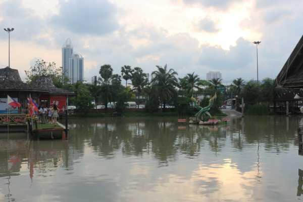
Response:
[[[275,78],[303,31],[300,0],[0,0],[0,28],[11,32],[11,67],[22,78],[33,61],[62,66],[70,38],[84,57],[84,79],[103,64],[146,73],[168,65],[179,77],[221,71],[234,78]],[[3,29],[2,29],[3,30]],[[8,33],[0,32],[0,68],[8,66]]]

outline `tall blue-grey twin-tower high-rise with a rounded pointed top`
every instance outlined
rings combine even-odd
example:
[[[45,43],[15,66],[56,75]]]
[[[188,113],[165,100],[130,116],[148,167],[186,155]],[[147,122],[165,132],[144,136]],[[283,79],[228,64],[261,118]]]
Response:
[[[83,81],[84,78],[84,58],[74,53],[71,39],[67,39],[62,47],[62,67],[63,73],[69,78],[70,83]]]

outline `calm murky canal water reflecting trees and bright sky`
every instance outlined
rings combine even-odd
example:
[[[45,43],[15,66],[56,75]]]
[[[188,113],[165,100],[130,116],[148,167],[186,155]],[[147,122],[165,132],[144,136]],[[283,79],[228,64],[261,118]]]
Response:
[[[0,201],[297,201],[300,117],[227,125],[70,120],[70,139],[0,139]]]

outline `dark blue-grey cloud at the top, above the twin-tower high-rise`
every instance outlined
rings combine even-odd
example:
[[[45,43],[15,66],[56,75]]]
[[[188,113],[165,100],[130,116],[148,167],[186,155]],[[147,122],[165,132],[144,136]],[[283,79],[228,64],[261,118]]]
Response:
[[[60,1],[52,23],[78,34],[106,34],[119,28],[115,5],[107,0]]]

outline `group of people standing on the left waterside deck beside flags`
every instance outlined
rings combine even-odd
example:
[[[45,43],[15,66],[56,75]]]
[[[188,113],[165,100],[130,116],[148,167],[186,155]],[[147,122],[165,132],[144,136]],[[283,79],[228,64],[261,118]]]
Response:
[[[39,113],[39,120],[41,124],[46,123],[53,123],[57,124],[57,118],[59,117],[58,114],[58,107],[56,104],[53,106],[48,107],[38,107],[38,113]]]

